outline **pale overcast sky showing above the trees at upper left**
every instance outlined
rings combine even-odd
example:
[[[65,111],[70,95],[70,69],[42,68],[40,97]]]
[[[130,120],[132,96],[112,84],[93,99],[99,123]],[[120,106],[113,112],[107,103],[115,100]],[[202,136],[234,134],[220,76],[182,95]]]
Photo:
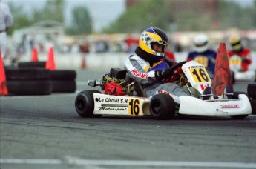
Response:
[[[33,8],[42,8],[47,0],[1,0],[22,5],[29,13]],[[125,11],[125,0],[65,0],[65,24],[70,23],[73,7],[87,7],[93,17],[96,31],[108,26]]]

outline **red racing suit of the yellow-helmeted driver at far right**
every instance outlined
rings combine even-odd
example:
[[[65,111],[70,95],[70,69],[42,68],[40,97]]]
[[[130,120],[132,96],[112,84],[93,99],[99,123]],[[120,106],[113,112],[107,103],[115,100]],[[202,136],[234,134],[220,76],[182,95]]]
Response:
[[[247,48],[242,48],[239,51],[229,50],[229,52],[228,52],[229,58],[234,55],[240,56],[240,58],[242,59],[242,69],[243,69],[243,71],[247,71],[249,64],[252,63],[251,50],[249,50]]]

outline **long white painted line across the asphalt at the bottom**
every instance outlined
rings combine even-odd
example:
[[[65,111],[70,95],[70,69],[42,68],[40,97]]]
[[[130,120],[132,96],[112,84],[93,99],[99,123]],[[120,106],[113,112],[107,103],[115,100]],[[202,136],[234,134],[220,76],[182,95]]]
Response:
[[[171,162],[137,160],[90,160],[90,159],[0,159],[1,164],[27,165],[119,165],[159,167],[209,167],[209,168],[256,168],[256,163],[246,162]]]

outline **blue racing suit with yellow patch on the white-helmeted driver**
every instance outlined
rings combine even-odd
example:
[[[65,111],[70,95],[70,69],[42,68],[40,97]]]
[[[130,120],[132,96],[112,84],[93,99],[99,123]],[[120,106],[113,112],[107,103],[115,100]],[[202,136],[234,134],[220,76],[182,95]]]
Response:
[[[210,70],[214,74],[215,70],[215,61],[217,53],[214,50],[206,50],[203,53],[198,53],[197,51],[192,51],[188,53],[187,61],[194,60],[199,64],[203,64],[206,67],[206,70]]]

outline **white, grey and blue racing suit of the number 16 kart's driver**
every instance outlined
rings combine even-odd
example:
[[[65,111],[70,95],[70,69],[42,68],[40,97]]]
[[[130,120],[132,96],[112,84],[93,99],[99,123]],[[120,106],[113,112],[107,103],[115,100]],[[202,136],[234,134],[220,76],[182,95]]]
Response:
[[[171,95],[176,103],[180,103],[179,96],[189,96],[183,87],[174,83],[163,83],[162,80],[157,79],[156,71],[168,67],[166,62],[151,58],[140,47],[137,47],[135,53],[137,55],[130,56],[125,62],[125,70],[131,78],[142,84],[146,96],[151,97],[157,93],[166,93]]]

